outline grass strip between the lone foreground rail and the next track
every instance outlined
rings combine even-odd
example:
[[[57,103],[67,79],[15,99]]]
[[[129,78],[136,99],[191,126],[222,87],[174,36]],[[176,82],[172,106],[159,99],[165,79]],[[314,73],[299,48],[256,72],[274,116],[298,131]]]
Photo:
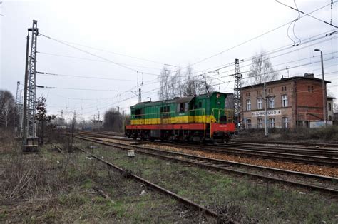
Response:
[[[94,153],[196,203],[227,213],[232,211],[231,218],[240,217],[239,222],[338,222],[337,197],[138,154],[130,159],[126,151],[104,146]]]

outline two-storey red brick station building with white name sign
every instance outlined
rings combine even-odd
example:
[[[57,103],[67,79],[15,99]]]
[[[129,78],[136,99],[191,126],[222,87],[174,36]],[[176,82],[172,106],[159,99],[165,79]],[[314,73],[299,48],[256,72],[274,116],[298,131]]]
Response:
[[[330,82],[325,81],[325,85],[327,83]],[[265,103],[269,128],[312,127],[323,121],[322,79],[314,78],[313,73],[265,84],[267,102],[263,83],[242,88],[243,128],[265,128]]]

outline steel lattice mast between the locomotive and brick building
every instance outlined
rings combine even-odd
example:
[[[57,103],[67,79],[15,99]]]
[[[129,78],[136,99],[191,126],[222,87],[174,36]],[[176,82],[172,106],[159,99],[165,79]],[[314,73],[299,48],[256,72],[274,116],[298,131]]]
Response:
[[[234,87],[234,105],[235,105],[235,123],[237,123],[237,131],[240,129],[240,91],[242,84],[240,82],[242,73],[240,73],[240,60],[235,59],[235,87]]]

